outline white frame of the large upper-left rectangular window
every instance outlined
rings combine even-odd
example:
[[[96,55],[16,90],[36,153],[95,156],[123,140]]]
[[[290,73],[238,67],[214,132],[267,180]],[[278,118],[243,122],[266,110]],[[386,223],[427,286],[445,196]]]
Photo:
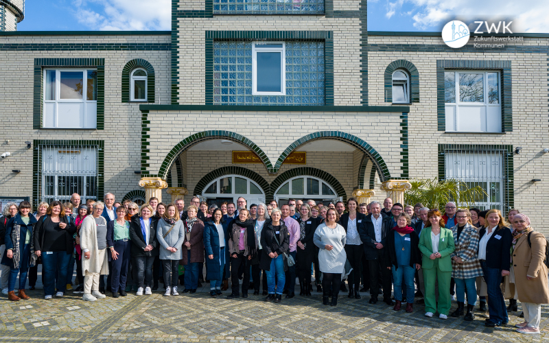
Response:
[[[56,71],[56,86],[55,86],[55,99],[54,100],[47,100],[46,99],[46,87],[47,87],[47,78],[46,73],[47,71],[54,70]],[[61,72],[62,71],[81,71],[82,72],[82,99],[61,99],[60,98],[60,91],[61,91]],[[97,68],[44,68],[42,71],[43,75],[43,83],[42,83],[42,99],[44,104],[55,104],[55,111],[54,111],[54,125],[53,126],[47,126],[47,120],[46,115],[43,112],[43,119],[42,119],[42,127],[43,128],[63,128],[66,129],[68,127],[66,126],[59,126],[59,104],[67,104],[67,103],[82,103],[84,107],[84,117],[82,119],[82,122],[84,123],[84,126],[80,127],[72,127],[72,128],[84,128],[84,129],[93,129],[97,128],[97,100],[88,100],[87,99],[87,93],[88,93],[88,71],[97,71]],[[97,80],[96,80],[97,82]],[[95,113],[88,113],[88,106],[86,106],[89,103],[95,103]],[[78,113],[80,115],[80,113]],[[95,116],[96,120],[93,122],[95,125],[93,126],[85,126],[85,123],[88,122],[89,116]],[[70,128],[69,128],[70,129]]]

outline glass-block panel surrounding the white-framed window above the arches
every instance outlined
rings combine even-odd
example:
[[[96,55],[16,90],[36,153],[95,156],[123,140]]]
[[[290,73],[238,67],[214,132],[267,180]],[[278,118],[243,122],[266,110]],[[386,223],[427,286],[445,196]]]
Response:
[[[285,95],[253,95],[253,42],[213,43],[213,103],[324,105],[324,42],[285,42]]]

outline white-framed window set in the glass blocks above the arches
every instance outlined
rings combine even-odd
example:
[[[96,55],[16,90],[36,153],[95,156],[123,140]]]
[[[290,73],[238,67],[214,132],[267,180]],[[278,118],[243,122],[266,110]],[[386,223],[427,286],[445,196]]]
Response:
[[[285,44],[252,44],[253,95],[285,95]]]

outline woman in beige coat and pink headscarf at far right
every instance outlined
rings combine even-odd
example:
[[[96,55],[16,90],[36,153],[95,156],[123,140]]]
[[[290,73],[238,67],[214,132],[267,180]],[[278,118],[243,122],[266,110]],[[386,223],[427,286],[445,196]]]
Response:
[[[524,214],[513,217],[513,268],[515,288],[524,311],[524,322],[516,324],[519,333],[539,333],[541,304],[549,303],[547,267],[544,263],[547,241],[530,227]]]

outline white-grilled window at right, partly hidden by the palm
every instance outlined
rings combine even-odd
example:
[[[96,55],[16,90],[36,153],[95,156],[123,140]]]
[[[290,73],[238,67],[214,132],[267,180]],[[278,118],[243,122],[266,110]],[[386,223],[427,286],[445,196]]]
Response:
[[[445,178],[458,179],[469,188],[480,186],[486,195],[474,204],[481,210],[506,209],[504,150],[445,150]]]

